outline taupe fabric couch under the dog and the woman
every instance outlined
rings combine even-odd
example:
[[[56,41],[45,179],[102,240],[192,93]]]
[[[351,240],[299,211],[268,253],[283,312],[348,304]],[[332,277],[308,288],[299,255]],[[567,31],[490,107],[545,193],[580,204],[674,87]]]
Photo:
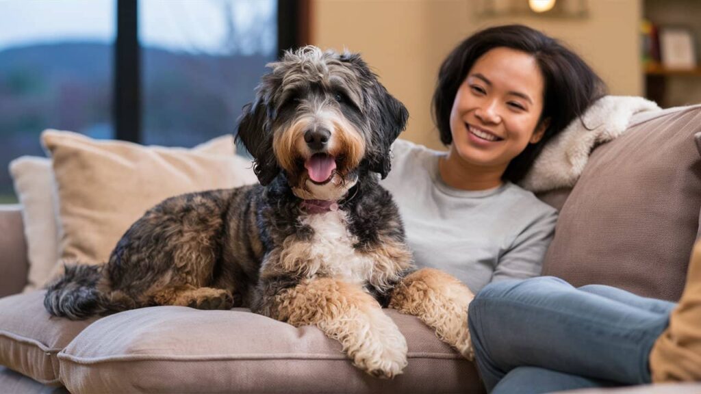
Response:
[[[700,230],[701,105],[636,114],[625,128],[597,144],[573,187],[536,190],[560,210],[543,273],[675,300]],[[391,381],[353,367],[340,344],[315,327],[244,308],[160,306],[86,321],[52,318],[42,290],[22,292],[32,269],[23,209],[0,208],[2,393],[484,392],[471,362],[416,318],[392,310],[386,313],[407,337],[409,365]],[[701,393],[701,383],[581,393],[603,391]]]

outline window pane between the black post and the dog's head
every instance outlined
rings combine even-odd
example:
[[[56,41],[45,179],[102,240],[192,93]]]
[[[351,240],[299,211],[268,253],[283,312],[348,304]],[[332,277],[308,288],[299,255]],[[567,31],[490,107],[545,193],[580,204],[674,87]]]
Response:
[[[274,0],[140,1],[144,144],[191,147],[233,133],[277,56]]]

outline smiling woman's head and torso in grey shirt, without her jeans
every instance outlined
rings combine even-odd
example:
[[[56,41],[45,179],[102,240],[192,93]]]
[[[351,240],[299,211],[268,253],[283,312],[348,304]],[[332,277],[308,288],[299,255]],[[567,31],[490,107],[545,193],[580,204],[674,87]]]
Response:
[[[493,27],[460,43],[433,95],[447,153],[397,141],[383,181],[417,266],[451,273],[472,292],[540,274],[557,212],[516,183],[604,90],[580,57],[529,27]]]

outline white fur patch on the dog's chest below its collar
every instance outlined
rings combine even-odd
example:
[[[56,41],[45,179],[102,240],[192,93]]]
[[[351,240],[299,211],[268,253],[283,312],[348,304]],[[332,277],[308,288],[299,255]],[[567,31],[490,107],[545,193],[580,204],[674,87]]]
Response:
[[[314,230],[308,246],[309,273],[348,283],[363,283],[371,279],[374,261],[353,248],[358,239],[348,231],[345,212],[308,215],[301,222]]]

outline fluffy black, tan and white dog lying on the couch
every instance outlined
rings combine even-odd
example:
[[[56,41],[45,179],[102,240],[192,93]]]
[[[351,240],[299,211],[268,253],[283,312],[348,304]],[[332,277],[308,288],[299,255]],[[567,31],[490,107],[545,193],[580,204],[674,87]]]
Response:
[[[67,265],[44,306],[82,319],[146,306],[249,307],[341,342],[355,366],[401,374],[407,342],[382,306],[418,316],[471,358],[472,293],[416,270],[390,193],[408,112],[358,54],[288,51],[243,108],[237,138],[260,184],[168,198],[101,266]]]

